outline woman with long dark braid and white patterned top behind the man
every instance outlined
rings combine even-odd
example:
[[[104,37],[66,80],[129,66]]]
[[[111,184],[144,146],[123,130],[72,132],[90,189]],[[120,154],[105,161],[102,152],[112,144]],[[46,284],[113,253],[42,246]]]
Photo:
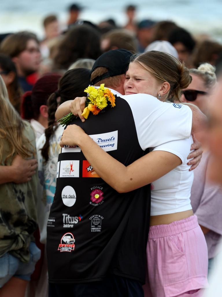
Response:
[[[55,193],[57,160],[61,150],[59,140],[63,133],[63,127],[57,125],[55,112],[59,104],[71,100],[77,96],[84,96],[84,89],[90,84],[90,70],[76,68],[68,70],[58,83],[58,89],[49,96],[48,106],[48,128],[41,135],[36,144],[38,156],[38,227],[40,241],[46,243],[46,227],[53,226],[53,219],[49,218],[49,211]],[[46,253],[41,277],[36,288],[36,296],[48,296],[48,269]]]

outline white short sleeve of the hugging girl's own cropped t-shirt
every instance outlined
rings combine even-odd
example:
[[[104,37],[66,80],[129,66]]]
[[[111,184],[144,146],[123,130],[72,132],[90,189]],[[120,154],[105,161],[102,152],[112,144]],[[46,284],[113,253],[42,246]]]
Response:
[[[190,153],[190,147],[192,143],[193,139],[192,136],[190,136],[189,138],[160,144],[159,146],[155,147],[153,151],[168,151],[169,153],[172,153],[179,157],[182,163],[184,163],[185,161],[187,161],[186,159]]]

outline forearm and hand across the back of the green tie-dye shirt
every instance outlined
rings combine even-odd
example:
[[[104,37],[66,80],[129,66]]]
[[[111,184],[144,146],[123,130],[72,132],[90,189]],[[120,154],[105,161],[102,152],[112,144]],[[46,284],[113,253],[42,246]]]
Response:
[[[25,160],[17,155],[13,159],[12,165],[0,166],[0,184],[8,182],[22,184],[30,181],[37,166],[36,159]]]

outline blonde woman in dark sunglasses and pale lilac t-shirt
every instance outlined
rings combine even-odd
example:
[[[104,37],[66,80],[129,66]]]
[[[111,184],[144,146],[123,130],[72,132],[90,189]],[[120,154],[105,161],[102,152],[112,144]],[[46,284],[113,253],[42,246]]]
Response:
[[[184,89],[181,96],[182,102],[192,101],[206,115],[211,102],[210,95],[216,85],[214,70],[215,68],[207,63],[201,64],[198,69],[190,69],[192,82]],[[200,165],[194,170],[194,182],[190,199],[194,214],[197,215],[207,242],[208,272],[210,272],[214,258],[217,255],[218,242],[222,237],[222,192],[218,185],[211,184],[207,178],[211,156],[205,134],[198,133],[196,137],[201,141],[204,153]]]

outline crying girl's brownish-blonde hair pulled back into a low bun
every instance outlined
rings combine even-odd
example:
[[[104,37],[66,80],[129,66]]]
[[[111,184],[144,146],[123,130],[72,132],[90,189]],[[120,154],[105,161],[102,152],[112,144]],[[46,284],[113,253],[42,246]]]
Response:
[[[189,86],[192,77],[189,69],[178,59],[168,53],[152,50],[142,53],[133,59],[134,63],[139,63],[149,71],[151,75],[160,83],[167,81],[170,90],[166,98],[171,101],[179,101],[182,89]]]

